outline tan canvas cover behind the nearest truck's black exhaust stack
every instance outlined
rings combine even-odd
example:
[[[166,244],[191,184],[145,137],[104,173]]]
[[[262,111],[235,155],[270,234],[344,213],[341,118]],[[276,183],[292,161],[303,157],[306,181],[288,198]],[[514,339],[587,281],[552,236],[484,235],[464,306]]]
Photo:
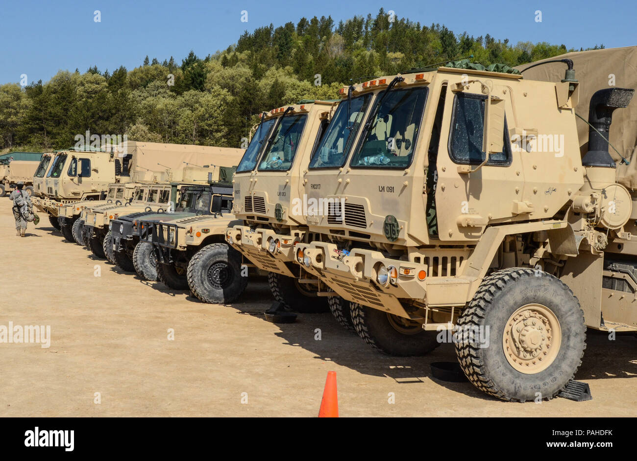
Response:
[[[597,90],[613,87],[637,90],[637,46],[566,53],[537,62],[562,58],[573,60],[575,78],[580,82],[580,100],[575,107],[575,113],[585,120],[588,120],[589,116],[590,97]],[[521,71],[531,64],[519,65],[516,69]],[[565,64],[555,62],[533,67],[523,75],[527,79],[560,81],[564,78],[565,69]],[[589,125],[580,118],[576,120],[580,150],[584,155],[588,150]],[[633,97],[628,107],[613,112],[610,142],[630,162],[630,165],[620,164],[619,155],[609,146],[610,155],[617,163],[618,181],[627,188],[637,188],[637,96]]]

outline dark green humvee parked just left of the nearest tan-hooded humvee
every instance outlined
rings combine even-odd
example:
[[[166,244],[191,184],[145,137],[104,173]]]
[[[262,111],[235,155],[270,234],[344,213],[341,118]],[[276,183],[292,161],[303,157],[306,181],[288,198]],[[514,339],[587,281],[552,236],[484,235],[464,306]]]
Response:
[[[218,179],[219,182],[227,182],[226,185],[231,184],[231,178],[233,169],[229,167],[220,167]],[[210,175],[210,182],[212,181],[212,175]],[[159,221],[173,221],[180,217],[187,217],[189,214],[197,214],[197,211],[202,214],[208,214],[210,210],[197,210],[195,200],[196,195],[203,189],[201,184],[195,186],[194,184],[176,184],[179,186],[175,192],[175,196],[171,196],[171,206],[168,210],[158,209],[154,211],[140,211],[124,216],[119,216],[117,219],[111,220],[109,223],[109,229],[111,233],[111,239],[113,242],[113,252],[121,252],[126,256],[118,256],[118,265],[120,261],[124,261],[124,265],[120,265],[122,270],[132,272],[134,269],[138,275],[144,280],[157,280],[157,259],[155,258],[155,252],[152,251],[152,245],[148,242],[141,242],[140,233],[141,226],[140,221],[148,221],[155,223]],[[176,195],[180,198],[177,199]],[[176,205],[175,205],[176,204]],[[132,261],[132,266],[129,263]]]

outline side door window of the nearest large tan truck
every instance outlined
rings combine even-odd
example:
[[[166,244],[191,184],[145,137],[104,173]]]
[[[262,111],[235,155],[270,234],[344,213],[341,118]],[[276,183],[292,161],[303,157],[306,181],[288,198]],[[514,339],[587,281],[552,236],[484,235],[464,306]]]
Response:
[[[473,93],[457,93],[454,97],[449,154],[455,163],[484,162],[482,136],[484,130],[484,104],[487,97]],[[505,118],[503,152],[489,155],[487,165],[508,166],[511,164],[511,146]]]

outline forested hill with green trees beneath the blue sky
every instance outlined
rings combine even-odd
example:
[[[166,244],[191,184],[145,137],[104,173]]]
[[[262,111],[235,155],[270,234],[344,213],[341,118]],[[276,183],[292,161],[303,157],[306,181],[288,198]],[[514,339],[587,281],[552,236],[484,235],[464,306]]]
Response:
[[[393,19],[393,20],[392,20]],[[380,10],[334,23],[301,18],[245,32],[223,52],[193,52],[177,64],[148,57],[120,67],[60,71],[47,83],[0,86],[0,149],[66,148],[75,136],[239,147],[257,114],[304,98],[333,99],[352,78],[394,74],[474,55],[475,62],[524,64],[567,51],[457,34]]]

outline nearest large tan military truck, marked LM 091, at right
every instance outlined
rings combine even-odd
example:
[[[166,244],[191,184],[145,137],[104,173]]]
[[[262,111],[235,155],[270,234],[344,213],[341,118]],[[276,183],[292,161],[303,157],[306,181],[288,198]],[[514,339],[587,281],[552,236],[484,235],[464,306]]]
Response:
[[[310,200],[331,200],[297,262],[352,301],[359,334],[397,355],[452,338],[469,380],[509,401],[564,389],[586,327],[637,329],[637,195],[608,153],[634,90],[593,95],[582,158],[564,62],[557,83],[472,65],[354,85],[365,123],[304,174]]]

